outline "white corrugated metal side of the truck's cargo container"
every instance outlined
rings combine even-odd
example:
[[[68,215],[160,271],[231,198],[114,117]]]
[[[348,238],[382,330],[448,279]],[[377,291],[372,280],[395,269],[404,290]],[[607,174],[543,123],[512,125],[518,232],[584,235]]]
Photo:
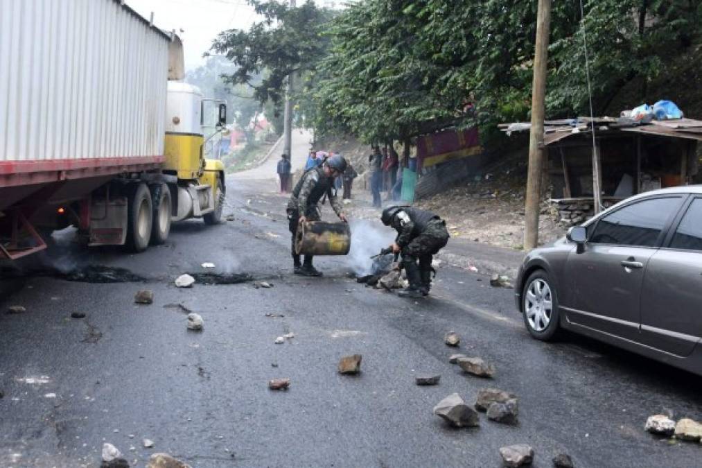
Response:
[[[166,35],[114,0],[0,11],[0,161],[163,154]]]

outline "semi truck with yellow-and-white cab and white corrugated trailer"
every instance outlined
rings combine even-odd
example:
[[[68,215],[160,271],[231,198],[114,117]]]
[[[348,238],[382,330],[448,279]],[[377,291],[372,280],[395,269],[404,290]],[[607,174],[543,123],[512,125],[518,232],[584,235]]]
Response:
[[[175,32],[124,1],[2,1],[0,258],[67,226],[142,252],[172,222],[219,223],[225,173],[204,126],[227,109],[184,78]]]

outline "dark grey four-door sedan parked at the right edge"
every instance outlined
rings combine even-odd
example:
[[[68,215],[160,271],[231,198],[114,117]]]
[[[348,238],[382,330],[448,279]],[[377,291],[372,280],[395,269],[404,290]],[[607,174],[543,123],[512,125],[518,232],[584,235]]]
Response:
[[[628,198],[532,250],[515,295],[536,339],[563,328],[702,375],[702,186]]]

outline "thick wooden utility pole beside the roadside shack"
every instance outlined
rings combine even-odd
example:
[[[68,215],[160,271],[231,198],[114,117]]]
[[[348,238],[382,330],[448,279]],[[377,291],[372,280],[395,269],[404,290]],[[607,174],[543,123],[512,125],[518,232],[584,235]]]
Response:
[[[551,0],[538,0],[536,18],[536,51],[534,53],[534,85],[531,91],[531,134],[529,135],[529,171],[524,226],[524,249],[538,245],[538,214],[541,201],[543,168],[543,115],[545,113],[548,34],[551,21]]]

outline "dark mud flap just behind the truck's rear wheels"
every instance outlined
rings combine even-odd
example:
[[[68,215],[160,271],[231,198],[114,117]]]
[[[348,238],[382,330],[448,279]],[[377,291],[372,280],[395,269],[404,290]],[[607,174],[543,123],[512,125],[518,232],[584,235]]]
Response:
[[[90,241],[96,245],[124,245],[127,237],[127,199],[93,198],[91,201]]]

